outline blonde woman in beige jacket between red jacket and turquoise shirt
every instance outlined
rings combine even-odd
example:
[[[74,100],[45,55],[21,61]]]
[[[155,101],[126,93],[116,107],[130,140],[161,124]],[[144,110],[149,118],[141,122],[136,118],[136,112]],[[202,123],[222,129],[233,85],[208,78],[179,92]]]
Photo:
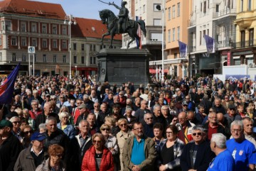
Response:
[[[127,138],[132,136],[133,133],[132,131],[129,131],[127,119],[120,118],[117,123],[121,129],[121,131],[117,133],[117,145],[119,147],[119,161],[122,161],[122,150],[124,148],[124,143]],[[122,162],[117,163],[117,170],[124,170],[124,165]]]

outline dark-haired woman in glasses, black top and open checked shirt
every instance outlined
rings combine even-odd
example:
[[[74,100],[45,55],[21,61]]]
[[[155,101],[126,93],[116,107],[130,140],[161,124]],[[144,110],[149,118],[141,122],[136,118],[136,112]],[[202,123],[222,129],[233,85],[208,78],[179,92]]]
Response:
[[[166,127],[166,139],[161,141],[158,153],[157,164],[159,171],[172,170],[180,171],[180,158],[184,148],[182,140],[178,139],[178,128],[174,125]]]

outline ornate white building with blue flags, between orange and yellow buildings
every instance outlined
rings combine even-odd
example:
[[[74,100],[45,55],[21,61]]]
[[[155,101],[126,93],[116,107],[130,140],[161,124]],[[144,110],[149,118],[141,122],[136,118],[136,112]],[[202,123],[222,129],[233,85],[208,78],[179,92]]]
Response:
[[[190,75],[221,74],[235,39],[233,0],[191,1],[188,22]],[[215,39],[215,53],[207,53],[204,35]]]

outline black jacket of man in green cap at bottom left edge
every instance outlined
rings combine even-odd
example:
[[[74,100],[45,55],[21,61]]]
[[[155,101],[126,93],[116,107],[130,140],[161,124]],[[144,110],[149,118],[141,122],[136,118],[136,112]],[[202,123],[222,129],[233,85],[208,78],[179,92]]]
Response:
[[[10,133],[9,137],[0,145],[0,171],[13,171],[20,152],[20,141]]]

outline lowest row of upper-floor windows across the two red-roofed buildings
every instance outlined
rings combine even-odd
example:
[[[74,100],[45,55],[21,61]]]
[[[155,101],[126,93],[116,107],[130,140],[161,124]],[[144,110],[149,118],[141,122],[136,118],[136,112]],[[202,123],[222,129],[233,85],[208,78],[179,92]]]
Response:
[[[37,62],[36,54],[34,56],[35,56],[35,62]],[[0,53],[0,57],[1,57],[1,53]],[[52,61],[49,61],[48,59],[49,58],[47,57],[47,55],[43,54],[43,62],[53,62],[53,63],[57,62],[57,55],[53,55],[53,58],[52,58],[53,60]],[[27,59],[27,55],[26,54],[22,54],[21,61],[22,62],[26,62],[27,60],[28,60]],[[12,61],[17,61],[16,53],[12,54]],[[63,63],[67,62],[67,56],[66,55],[63,55],[62,62]],[[74,64],[78,63],[78,57],[77,56],[73,56],[73,63]],[[81,62],[80,63],[81,64],[85,64],[85,56],[81,57]],[[96,57],[90,57],[90,64],[96,64]]]

